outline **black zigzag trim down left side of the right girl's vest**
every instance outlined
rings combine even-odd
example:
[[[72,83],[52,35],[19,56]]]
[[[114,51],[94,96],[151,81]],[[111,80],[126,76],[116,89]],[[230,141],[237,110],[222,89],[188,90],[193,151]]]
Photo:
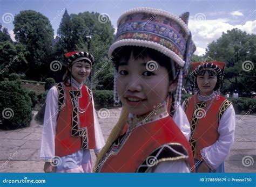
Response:
[[[196,111],[198,109],[199,110],[204,109],[205,107],[206,107],[206,102],[197,103]],[[190,130],[191,130],[190,145],[191,145],[193,156],[196,154],[196,148],[197,148],[197,140],[193,139],[193,135],[197,128],[197,124],[198,124],[197,112],[193,112],[193,117],[190,123]]]

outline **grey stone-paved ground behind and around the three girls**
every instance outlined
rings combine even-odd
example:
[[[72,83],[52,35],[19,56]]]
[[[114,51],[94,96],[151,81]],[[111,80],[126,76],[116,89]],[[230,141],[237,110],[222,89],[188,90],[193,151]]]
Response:
[[[109,118],[99,118],[105,140],[116,124],[120,109],[111,109],[109,114]],[[256,172],[256,116],[237,115],[236,120],[235,142],[225,160],[225,170]],[[15,131],[0,130],[0,172],[43,172],[44,162],[39,161],[42,130],[43,126],[38,125],[35,120],[32,120],[27,128]],[[93,151],[91,155],[94,166],[96,157]]]

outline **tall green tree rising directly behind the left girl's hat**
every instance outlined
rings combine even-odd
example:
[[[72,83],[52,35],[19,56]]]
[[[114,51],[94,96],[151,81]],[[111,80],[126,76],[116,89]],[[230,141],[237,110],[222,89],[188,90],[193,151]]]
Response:
[[[56,44],[56,60],[63,61],[63,54],[70,51],[85,51],[95,57],[93,76],[97,89],[112,90],[113,68],[107,62],[107,51],[114,39],[114,28],[111,21],[101,23],[97,12],[83,12],[68,15],[65,11],[58,28],[58,42]],[[102,68],[104,67],[104,68]],[[98,71],[100,69],[100,71]]]

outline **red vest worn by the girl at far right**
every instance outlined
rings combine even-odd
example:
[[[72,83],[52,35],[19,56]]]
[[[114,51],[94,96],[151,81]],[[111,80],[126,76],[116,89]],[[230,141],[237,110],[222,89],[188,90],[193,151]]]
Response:
[[[196,97],[196,112],[194,110],[194,96],[185,100],[184,110],[188,121],[190,121],[191,137],[190,144],[195,159],[202,159],[200,150],[213,145],[219,139],[219,121],[225,110],[232,103],[224,97],[216,97],[205,115],[207,106],[211,99],[200,102]],[[197,116],[198,113],[198,116]]]

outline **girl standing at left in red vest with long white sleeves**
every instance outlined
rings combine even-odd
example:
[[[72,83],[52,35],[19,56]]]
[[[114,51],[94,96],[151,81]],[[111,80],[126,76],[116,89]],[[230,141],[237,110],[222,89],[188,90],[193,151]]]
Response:
[[[84,84],[91,78],[94,58],[86,52],[64,57],[68,63],[64,81],[46,98],[40,157],[45,172],[92,172],[90,149],[97,155],[105,145],[92,92]]]

